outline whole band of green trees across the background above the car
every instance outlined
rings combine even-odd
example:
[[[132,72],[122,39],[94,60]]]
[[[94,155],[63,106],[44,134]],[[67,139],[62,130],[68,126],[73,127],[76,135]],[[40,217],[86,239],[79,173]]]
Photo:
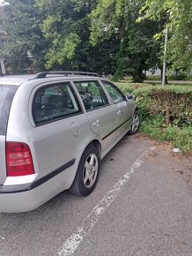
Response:
[[[190,0],[5,2],[6,42],[0,54],[12,72],[32,64],[30,51],[36,71],[46,64],[47,69],[115,73],[114,79],[131,75],[142,81],[146,70],[162,68],[159,34],[165,24],[169,65],[180,74],[191,67]],[[137,22],[142,15],[145,19]]]

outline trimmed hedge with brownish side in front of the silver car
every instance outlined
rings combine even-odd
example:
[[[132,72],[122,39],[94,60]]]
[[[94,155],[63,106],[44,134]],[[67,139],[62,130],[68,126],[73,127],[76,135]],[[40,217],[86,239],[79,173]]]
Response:
[[[137,103],[144,112],[161,114],[167,125],[183,126],[191,123],[192,87],[147,86],[135,89],[133,94],[137,96]]]

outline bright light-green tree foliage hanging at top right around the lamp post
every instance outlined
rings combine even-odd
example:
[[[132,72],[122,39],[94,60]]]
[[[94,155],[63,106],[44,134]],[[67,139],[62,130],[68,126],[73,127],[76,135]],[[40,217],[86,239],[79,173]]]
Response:
[[[142,8],[142,12],[146,19],[159,20],[165,15],[167,17],[166,26],[169,29],[167,59],[169,69],[180,71],[191,69],[191,0],[147,0]],[[161,31],[162,34],[164,34],[164,29]]]

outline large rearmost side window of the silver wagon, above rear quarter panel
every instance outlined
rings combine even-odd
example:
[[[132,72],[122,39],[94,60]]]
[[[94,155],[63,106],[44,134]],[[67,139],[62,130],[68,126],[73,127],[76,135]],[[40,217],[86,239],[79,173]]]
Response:
[[[33,98],[35,124],[44,124],[81,112],[70,83],[41,87]]]

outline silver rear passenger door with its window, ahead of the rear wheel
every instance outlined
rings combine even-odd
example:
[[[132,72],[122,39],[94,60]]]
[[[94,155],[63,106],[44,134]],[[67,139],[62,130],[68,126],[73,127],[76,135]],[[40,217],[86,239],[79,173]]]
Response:
[[[74,81],[74,85],[85,107],[85,115],[89,120],[92,132],[100,136],[104,142],[104,149],[107,148],[115,139],[112,136],[115,129],[114,105],[110,104],[97,80]],[[109,137],[110,139],[107,139]]]

